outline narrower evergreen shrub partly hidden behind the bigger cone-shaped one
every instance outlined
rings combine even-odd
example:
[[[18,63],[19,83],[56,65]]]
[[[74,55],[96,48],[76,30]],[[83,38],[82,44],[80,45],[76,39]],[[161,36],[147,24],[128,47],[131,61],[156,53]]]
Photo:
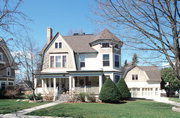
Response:
[[[121,93],[121,96],[122,96],[121,100],[128,100],[131,98],[131,93],[129,92],[127,84],[123,78],[118,81],[117,88],[119,89],[119,92]]]

